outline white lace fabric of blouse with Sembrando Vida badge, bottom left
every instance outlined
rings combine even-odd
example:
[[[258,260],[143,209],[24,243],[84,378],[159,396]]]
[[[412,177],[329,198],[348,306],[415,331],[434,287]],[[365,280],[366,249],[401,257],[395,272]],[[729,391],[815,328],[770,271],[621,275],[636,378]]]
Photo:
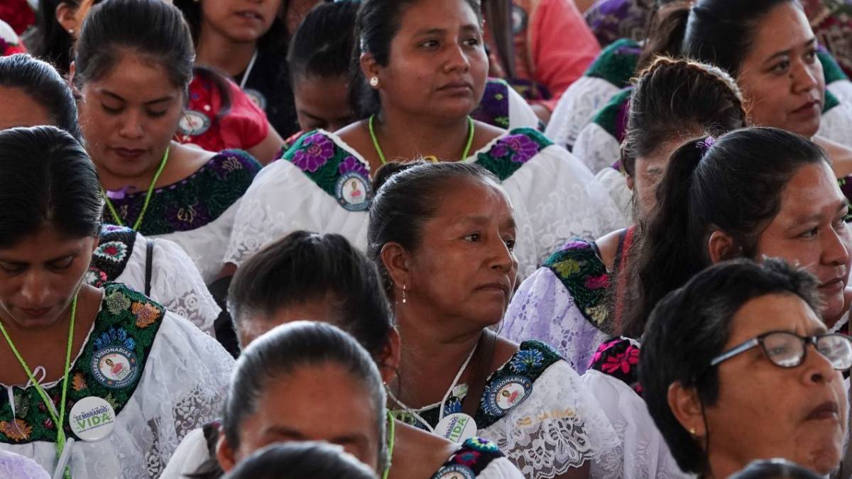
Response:
[[[86,479],[158,477],[183,436],[221,412],[233,358],[190,323],[166,312],[145,369],[112,435],[76,442],[72,476]],[[53,471],[55,443],[0,444]]]

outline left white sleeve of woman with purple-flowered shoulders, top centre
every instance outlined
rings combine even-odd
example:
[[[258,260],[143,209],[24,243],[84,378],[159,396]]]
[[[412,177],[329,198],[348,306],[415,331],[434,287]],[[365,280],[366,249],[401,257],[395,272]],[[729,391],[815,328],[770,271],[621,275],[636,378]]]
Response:
[[[366,249],[366,211],[347,211],[289,161],[269,164],[240,199],[225,263],[244,262],[264,245],[303,229],[343,234]]]

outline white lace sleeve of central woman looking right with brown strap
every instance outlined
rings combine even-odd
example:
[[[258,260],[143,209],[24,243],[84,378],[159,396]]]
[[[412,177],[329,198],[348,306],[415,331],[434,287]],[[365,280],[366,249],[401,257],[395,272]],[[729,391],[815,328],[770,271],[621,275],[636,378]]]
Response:
[[[528,478],[556,477],[618,447],[618,436],[577,372],[557,361],[533,391],[478,436],[494,441]]]

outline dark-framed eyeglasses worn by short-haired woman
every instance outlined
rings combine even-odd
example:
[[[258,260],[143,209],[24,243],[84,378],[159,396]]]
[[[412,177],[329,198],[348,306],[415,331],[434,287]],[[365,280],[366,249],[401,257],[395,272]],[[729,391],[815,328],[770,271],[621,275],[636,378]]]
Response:
[[[852,338],[845,334],[830,332],[817,336],[799,336],[794,332],[770,331],[764,332],[757,338],[751,338],[733,349],[717,355],[710,361],[710,366],[717,366],[722,361],[728,361],[735,355],[760,346],[763,354],[775,366],[801,366],[808,355],[808,344],[813,344],[820,355],[826,357],[832,367],[843,371],[852,367]]]

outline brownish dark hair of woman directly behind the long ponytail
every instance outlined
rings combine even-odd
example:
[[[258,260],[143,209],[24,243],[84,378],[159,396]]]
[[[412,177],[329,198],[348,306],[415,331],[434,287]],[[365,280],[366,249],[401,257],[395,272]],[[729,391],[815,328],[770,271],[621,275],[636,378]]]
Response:
[[[659,57],[636,80],[622,164],[635,174],[636,158],[678,136],[719,136],[746,126],[740,89],[716,66]]]

